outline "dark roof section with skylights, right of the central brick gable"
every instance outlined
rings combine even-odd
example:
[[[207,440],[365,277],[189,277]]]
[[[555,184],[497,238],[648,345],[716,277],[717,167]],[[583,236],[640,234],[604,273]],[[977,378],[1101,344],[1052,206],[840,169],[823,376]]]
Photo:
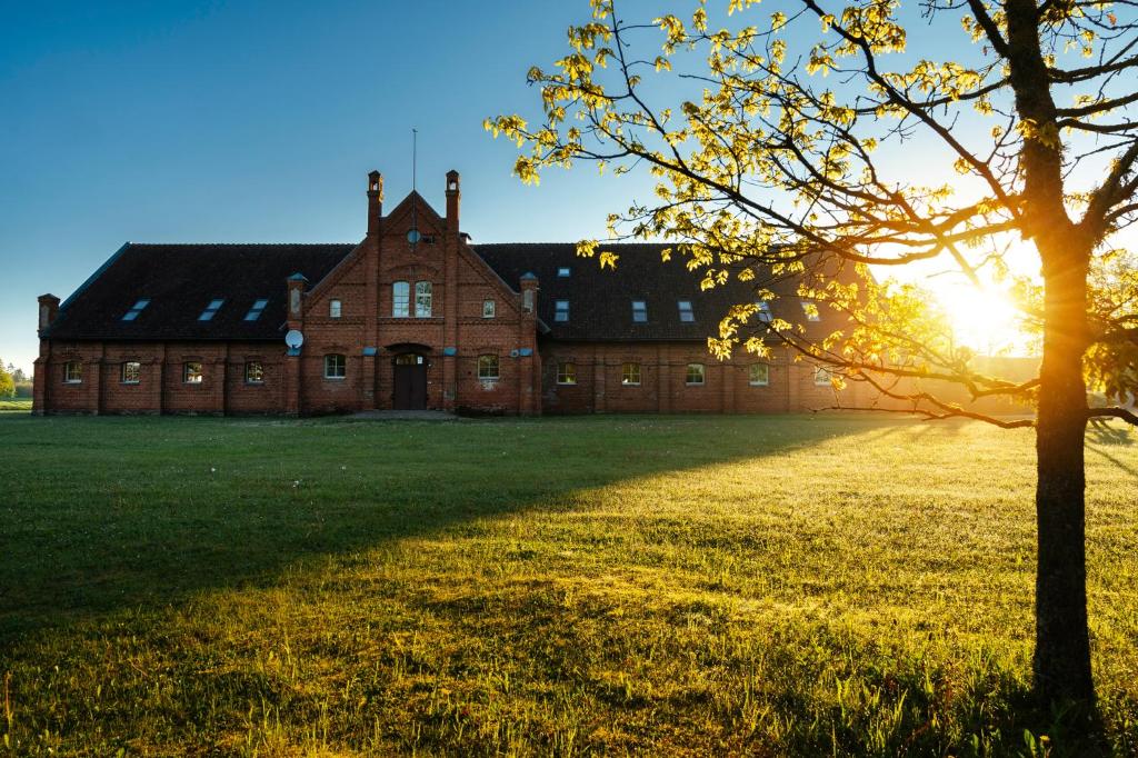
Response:
[[[537,275],[537,315],[549,324],[554,339],[706,340],[718,335],[719,321],[732,305],[754,302],[756,289],[787,296],[773,303],[772,312],[786,321],[802,321],[799,298],[793,297],[795,281],[757,277],[741,282],[732,278],[727,285],[701,290],[702,274],[688,271],[686,258],[676,254],[667,263],[661,261],[667,247],[650,242],[602,244],[599,252],[611,250],[619,256],[616,270],[602,270],[599,258],[579,257],[574,244],[473,246],[511,287],[517,288],[516,282],[527,273]],[[558,275],[563,267],[569,269],[568,277]],[[569,302],[569,321],[554,318],[556,300]],[[645,302],[646,322],[633,321],[633,300]],[[691,300],[694,321],[679,320],[679,300]],[[827,319],[825,310],[820,315]],[[833,316],[830,312],[828,319]]]

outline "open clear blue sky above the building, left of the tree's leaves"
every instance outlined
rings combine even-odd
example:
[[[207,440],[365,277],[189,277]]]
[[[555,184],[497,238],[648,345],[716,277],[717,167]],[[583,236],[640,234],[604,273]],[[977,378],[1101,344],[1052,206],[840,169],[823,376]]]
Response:
[[[530,112],[526,69],[584,0],[0,0],[0,359],[31,369],[35,297],[124,241],[355,241],[364,182],[437,207],[462,173],[476,241],[604,233],[635,179],[511,176],[488,115]],[[582,198],[587,197],[587,201]]]

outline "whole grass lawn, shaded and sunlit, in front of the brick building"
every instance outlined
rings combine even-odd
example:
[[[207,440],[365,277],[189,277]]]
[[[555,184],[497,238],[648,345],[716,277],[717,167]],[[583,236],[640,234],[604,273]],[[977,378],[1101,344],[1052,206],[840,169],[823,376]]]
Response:
[[[1088,442],[1133,755],[1138,435]],[[7,413],[0,450],[0,753],[1073,750],[1026,707],[1031,431]]]

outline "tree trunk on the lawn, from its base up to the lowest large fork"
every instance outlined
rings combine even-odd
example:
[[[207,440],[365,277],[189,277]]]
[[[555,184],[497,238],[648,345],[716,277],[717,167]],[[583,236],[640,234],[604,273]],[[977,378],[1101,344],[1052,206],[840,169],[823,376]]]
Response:
[[[1036,692],[1047,705],[1092,707],[1087,628],[1083,437],[1087,267],[1066,249],[1059,270],[1044,255],[1045,329],[1036,430],[1038,566]],[[1086,258],[1083,258],[1086,259]]]

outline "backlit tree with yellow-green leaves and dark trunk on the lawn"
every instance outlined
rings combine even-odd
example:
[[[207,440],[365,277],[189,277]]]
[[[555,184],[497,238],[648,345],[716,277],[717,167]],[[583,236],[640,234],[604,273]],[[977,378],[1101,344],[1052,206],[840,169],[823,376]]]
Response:
[[[794,277],[800,295],[849,319],[810,343],[741,304],[709,338],[714,352],[787,345],[906,412],[1034,427],[1034,686],[1045,702],[1092,706],[1086,426],[1138,423],[1087,399],[1088,386],[1115,402],[1138,387],[1138,287],[1116,249],[1138,216],[1136,3],[926,0],[918,18],[899,0],[784,0],[757,17],[753,0],[693,0],[690,17],[634,20],[615,0],[591,5],[555,67],[529,71],[542,123],[486,121],[525,148],[514,172],[536,182],[580,162],[646,170],[655,199],[610,215],[613,238],[671,241],[666,257],[687,256],[706,287],[739,278],[770,299],[772,281]],[[931,55],[953,42],[954,59]],[[578,252],[619,263],[593,241]],[[1041,335],[1038,377],[976,371],[918,293],[871,275],[930,264],[975,286],[1016,281]],[[975,413],[920,379],[1023,398],[1036,413]]]

